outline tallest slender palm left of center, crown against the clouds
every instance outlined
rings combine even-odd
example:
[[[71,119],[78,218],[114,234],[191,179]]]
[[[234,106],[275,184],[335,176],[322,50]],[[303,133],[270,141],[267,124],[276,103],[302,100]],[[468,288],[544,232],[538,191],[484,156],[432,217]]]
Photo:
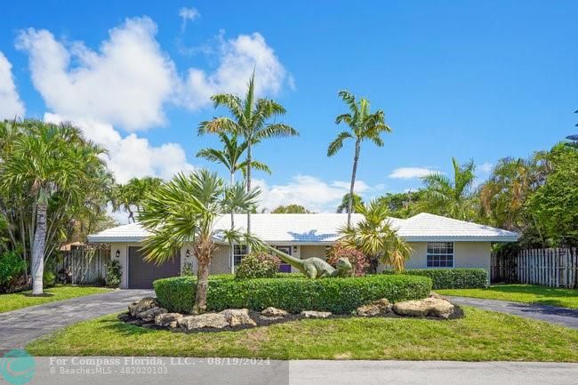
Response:
[[[245,187],[251,191],[253,170],[253,145],[261,140],[297,136],[292,126],[283,123],[268,123],[269,119],[285,114],[285,108],[275,100],[255,98],[255,74],[249,80],[245,98],[233,93],[213,95],[214,107],[224,106],[229,109],[232,117],[215,117],[213,120],[199,124],[198,133],[231,132],[243,137],[247,143]],[[247,210],[247,234],[251,234],[251,210]]]

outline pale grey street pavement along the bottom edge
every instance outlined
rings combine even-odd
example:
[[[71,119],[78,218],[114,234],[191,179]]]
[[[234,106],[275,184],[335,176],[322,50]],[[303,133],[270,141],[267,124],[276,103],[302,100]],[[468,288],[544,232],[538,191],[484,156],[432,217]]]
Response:
[[[91,372],[97,366],[100,367],[100,373]],[[575,385],[577,378],[578,364],[558,363],[333,360],[252,362],[240,358],[36,357],[36,373],[29,383]]]

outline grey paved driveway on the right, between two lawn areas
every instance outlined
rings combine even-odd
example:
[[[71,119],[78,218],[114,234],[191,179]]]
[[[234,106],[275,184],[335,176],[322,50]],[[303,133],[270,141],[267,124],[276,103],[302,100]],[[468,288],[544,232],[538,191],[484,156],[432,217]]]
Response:
[[[475,306],[476,308],[509,313],[515,316],[534,318],[552,324],[578,329],[578,309],[558,308],[536,303],[486,300],[482,298],[454,297],[446,298],[458,305]]]

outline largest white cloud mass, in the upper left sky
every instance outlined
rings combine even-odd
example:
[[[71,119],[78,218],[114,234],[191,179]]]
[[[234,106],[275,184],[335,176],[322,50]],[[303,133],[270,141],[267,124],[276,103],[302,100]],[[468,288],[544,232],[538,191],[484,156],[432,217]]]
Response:
[[[186,17],[190,18],[190,13]],[[83,42],[65,44],[50,31],[20,31],[16,47],[28,53],[33,84],[44,98],[45,120],[68,120],[108,149],[108,165],[118,181],[155,175],[170,178],[193,168],[176,143],[153,146],[129,132],[165,124],[165,104],[197,109],[210,106],[214,92],[244,92],[256,70],[257,92],[276,93],[285,68],[259,34],[217,41],[219,67],[210,74],[191,68],[187,80],[155,36],[148,17],[127,19],[108,31],[98,50]]]

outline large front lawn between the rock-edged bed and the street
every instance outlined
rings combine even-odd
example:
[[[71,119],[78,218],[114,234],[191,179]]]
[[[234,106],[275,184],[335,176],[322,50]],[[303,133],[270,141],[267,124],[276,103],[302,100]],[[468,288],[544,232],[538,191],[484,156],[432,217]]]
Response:
[[[110,315],[71,325],[26,349],[36,356],[578,362],[577,330],[469,307],[464,311],[466,317],[449,321],[308,319],[192,334],[126,325]]]

